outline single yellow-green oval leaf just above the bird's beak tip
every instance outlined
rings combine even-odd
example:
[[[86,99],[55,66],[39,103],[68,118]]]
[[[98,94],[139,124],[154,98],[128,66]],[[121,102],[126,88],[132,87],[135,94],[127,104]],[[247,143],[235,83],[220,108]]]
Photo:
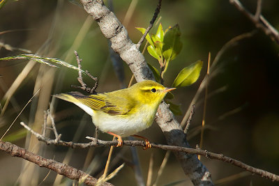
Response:
[[[197,61],[186,68],[183,68],[177,75],[173,87],[189,86],[197,81],[202,70],[202,61]]]

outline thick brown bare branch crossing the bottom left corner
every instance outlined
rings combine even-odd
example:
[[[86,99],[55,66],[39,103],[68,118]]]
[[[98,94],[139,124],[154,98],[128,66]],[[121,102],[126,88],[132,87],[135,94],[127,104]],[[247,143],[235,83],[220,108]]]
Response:
[[[68,166],[55,160],[50,160],[40,155],[35,155],[24,148],[20,148],[15,144],[10,144],[8,142],[0,141],[0,150],[5,151],[11,156],[21,157],[29,162],[38,164],[38,166],[45,167],[63,176],[66,176],[72,180],[84,180],[86,185],[95,185],[97,183],[96,178],[93,178],[84,171],[75,169],[73,166]],[[103,183],[103,185],[112,186],[111,183]]]

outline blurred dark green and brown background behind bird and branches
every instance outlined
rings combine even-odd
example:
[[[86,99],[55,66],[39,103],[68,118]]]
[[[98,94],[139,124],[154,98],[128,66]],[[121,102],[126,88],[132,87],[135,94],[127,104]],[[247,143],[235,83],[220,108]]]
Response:
[[[107,4],[107,1],[105,1]],[[142,34],[135,27],[147,27],[153,17],[158,1],[113,1],[116,16],[128,30],[133,42],[140,40]],[[255,13],[257,1],[241,1],[251,13]],[[279,29],[279,1],[264,1],[262,15],[277,30]],[[181,122],[199,84],[206,75],[206,62],[209,52],[213,60],[226,42],[242,33],[255,30],[253,25],[232,4],[227,1],[166,1],[162,3],[159,22],[163,29],[179,24],[183,48],[174,61],[169,64],[165,74],[165,86],[172,86],[180,70],[201,59],[204,67],[198,81],[192,86],[174,91],[175,104],[181,105]],[[156,32],[158,25],[151,33]],[[121,88],[110,60],[107,39],[100,33],[98,24],[88,17],[85,10],[70,1],[8,1],[0,10],[0,57],[24,54],[39,54],[61,59],[77,65],[73,51],[77,50],[82,61],[82,69],[99,78],[98,92],[114,91]],[[13,51],[3,44],[15,47]],[[143,45],[144,46],[144,45]],[[142,46],[142,49],[143,49]],[[23,51],[22,51],[23,49]],[[216,64],[216,75],[208,86],[206,107],[206,130],[203,148],[214,153],[223,153],[236,160],[259,169],[279,174],[279,87],[278,87],[278,45],[262,31],[250,38],[244,38],[227,49]],[[156,59],[147,52],[144,56],[156,68]],[[123,64],[125,84],[128,86],[131,72]],[[68,91],[81,91],[70,85],[79,85],[77,72],[65,67],[51,68],[33,61],[0,61],[1,118],[0,136],[6,132],[16,116],[33,93],[40,88],[19,118],[15,121],[3,141],[10,141],[33,153],[43,155],[59,162],[70,164],[77,169],[88,171],[91,175],[102,175],[109,148],[69,149],[61,146],[46,146],[31,137],[20,125],[21,121],[37,132],[41,131],[45,110],[52,108],[56,127],[61,139],[65,141],[88,142],[86,136],[94,136],[95,127],[91,118],[74,104],[56,100],[52,95]],[[84,81],[89,86],[93,82],[88,77]],[[200,126],[204,111],[204,92],[196,104],[188,140],[195,147],[200,141]],[[52,102],[50,104],[50,102]],[[8,103],[8,104],[7,104]],[[50,137],[54,138],[52,132]],[[148,130],[140,132],[152,142],[166,144],[165,137],[156,123]],[[107,134],[100,139],[110,140]],[[142,150],[137,148],[144,182],[149,171],[149,161],[153,155],[154,183],[165,156],[164,150]],[[225,162],[201,161],[212,174],[218,185],[278,185],[271,180],[252,176],[250,173]],[[130,148],[114,148],[110,172],[126,162],[119,173],[109,182],[114,185],[136,185],[134,166]],[[10,157],[0,152],[0,185],[66,185],[70,180],[56,177],[56,173],[26,161]],[[45,179],[44,179],[45,178]],[[158,185],[190,185],[179,162],[172,153],[165,166]]]

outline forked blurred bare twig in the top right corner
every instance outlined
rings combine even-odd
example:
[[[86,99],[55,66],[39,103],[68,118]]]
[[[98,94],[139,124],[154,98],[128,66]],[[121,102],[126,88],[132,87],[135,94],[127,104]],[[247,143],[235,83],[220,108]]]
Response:
[[[243,5],[239,0],[229,0],[229,2],[232,3],[232,5],[234,5],[237,10],[243,13],[243,15],[245,15],[253,24],[255,24],[257,29],[262,30],[266,34],[266,36],[269,36],[271,40],[274,40],[277,42],[277,44],[279,44],[278,31],[271,24],[269,24],[269,22],[264,18],[264,16],[260,15],[262,9],[261,1],[257,1],[256,15],[252,15],[251,13],[249,13],[249,11],[243,7]]]

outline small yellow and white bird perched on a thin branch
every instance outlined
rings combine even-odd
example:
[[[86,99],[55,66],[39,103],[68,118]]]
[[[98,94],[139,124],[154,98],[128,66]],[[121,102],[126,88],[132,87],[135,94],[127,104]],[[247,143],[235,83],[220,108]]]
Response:
[[[167,92],[174,89],[147,80],[110,93],[82,95],[70,92],[54,97],[73,102],[82,108],[92,116],[98,129],[117,137],[117,146],[122,146],[121,137],[128,137],[151,126],[160,102]],[[147,140],[146,147],[151,147]]]

